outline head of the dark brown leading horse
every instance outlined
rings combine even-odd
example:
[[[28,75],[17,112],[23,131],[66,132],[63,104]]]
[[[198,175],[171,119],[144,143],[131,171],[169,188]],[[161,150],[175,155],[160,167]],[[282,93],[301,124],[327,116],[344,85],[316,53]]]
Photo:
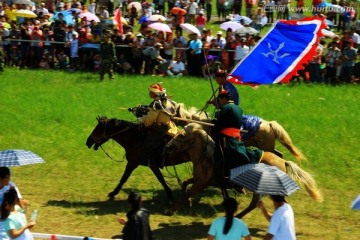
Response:
[[[86,141],[86,146],[88,148],[94,146],[94,150],[98,150],[103,143],[107,142],[114,135],[114,129],[117,125],[116,119],[98,116],[96,120],[98,124]]]

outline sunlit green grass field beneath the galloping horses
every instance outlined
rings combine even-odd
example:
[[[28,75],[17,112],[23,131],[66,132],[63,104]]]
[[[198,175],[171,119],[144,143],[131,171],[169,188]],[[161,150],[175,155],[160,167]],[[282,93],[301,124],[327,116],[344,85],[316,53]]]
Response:
[[[30,201],[28,215],[38,209],[33,232],[111,238],[122,226],[117,216],[127,211],[129,191],[143,195],[151,212],[157,239],[205,239],[211,221],[222,215],[220,191],[209,188],[175,216],[164,215],[166,196],[151,171],[135,170],[114,201],[113,190],[125,162],[109,159],[101,150],[87,149],[85,141],[96,125],[97,115],[135,121],[126,109],[150,102],[147,87],[162,81],[173,99],[202,108],[211,95],[209,81],[195,78],[160,78],[116,75],[114,81],[98,82],[91,73],[31,71],[7,68],[0,75],[0,149],[27,149],[46,163],[14,167],[12,179]],[[358,86],[271,85],[237,86],[247,114],[277,120],[296,146],[308,157],[302,168],[314,174],[324,193],[323,203],[313,202],[304,189],[288,198],[296,218],[298,239],[346,239],[360,236],[360,211],[350,209],[359,194],[360,134]],[[116,160],[124,153],[110,141],[105,150]],[[293,160],[280,144],[277,148]],[[189,177],[189,165],[178,168]],[[177,197],[180,187],[164,169]],[[233,192],[230,193],[235,196]],[[235,196],[243,209],[250,195]],[[270,200],[265,203],[271,209]],[[259,210],[244,218],[253,239],[261,239],[268,222]]]

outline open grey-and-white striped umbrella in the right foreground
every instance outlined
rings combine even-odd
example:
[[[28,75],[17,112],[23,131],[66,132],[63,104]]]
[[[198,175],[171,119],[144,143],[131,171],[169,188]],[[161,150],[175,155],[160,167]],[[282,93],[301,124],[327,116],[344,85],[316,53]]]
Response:
[[[299,189],[285,172],[264,163],[231,169],[230,181],[258,194],[288,196]]]

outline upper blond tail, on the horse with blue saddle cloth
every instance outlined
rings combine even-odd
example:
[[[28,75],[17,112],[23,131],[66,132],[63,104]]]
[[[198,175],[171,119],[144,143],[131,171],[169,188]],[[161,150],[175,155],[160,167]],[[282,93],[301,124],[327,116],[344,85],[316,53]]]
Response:
[[[291,141],[289,134],[285,131],[285,129],[276,121],[269,122],[271,129],[275,133],[275,138],[281,142],[281,144],[286,147],[291,154],[301,163],[301,160],[306,160],[306,157],[301,152],[300,149],[294,146]]]

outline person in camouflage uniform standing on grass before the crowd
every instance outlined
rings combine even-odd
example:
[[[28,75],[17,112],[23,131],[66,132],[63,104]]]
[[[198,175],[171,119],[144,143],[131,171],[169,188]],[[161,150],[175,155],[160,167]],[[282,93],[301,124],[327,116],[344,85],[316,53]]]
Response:
[[[100,44],[100,56],[100,80],[104,80],[105,73],[109,74],[110,79],[114,79],[113,64],[116,61],[116,52],[110,34],[106,34],[104,41]]]

